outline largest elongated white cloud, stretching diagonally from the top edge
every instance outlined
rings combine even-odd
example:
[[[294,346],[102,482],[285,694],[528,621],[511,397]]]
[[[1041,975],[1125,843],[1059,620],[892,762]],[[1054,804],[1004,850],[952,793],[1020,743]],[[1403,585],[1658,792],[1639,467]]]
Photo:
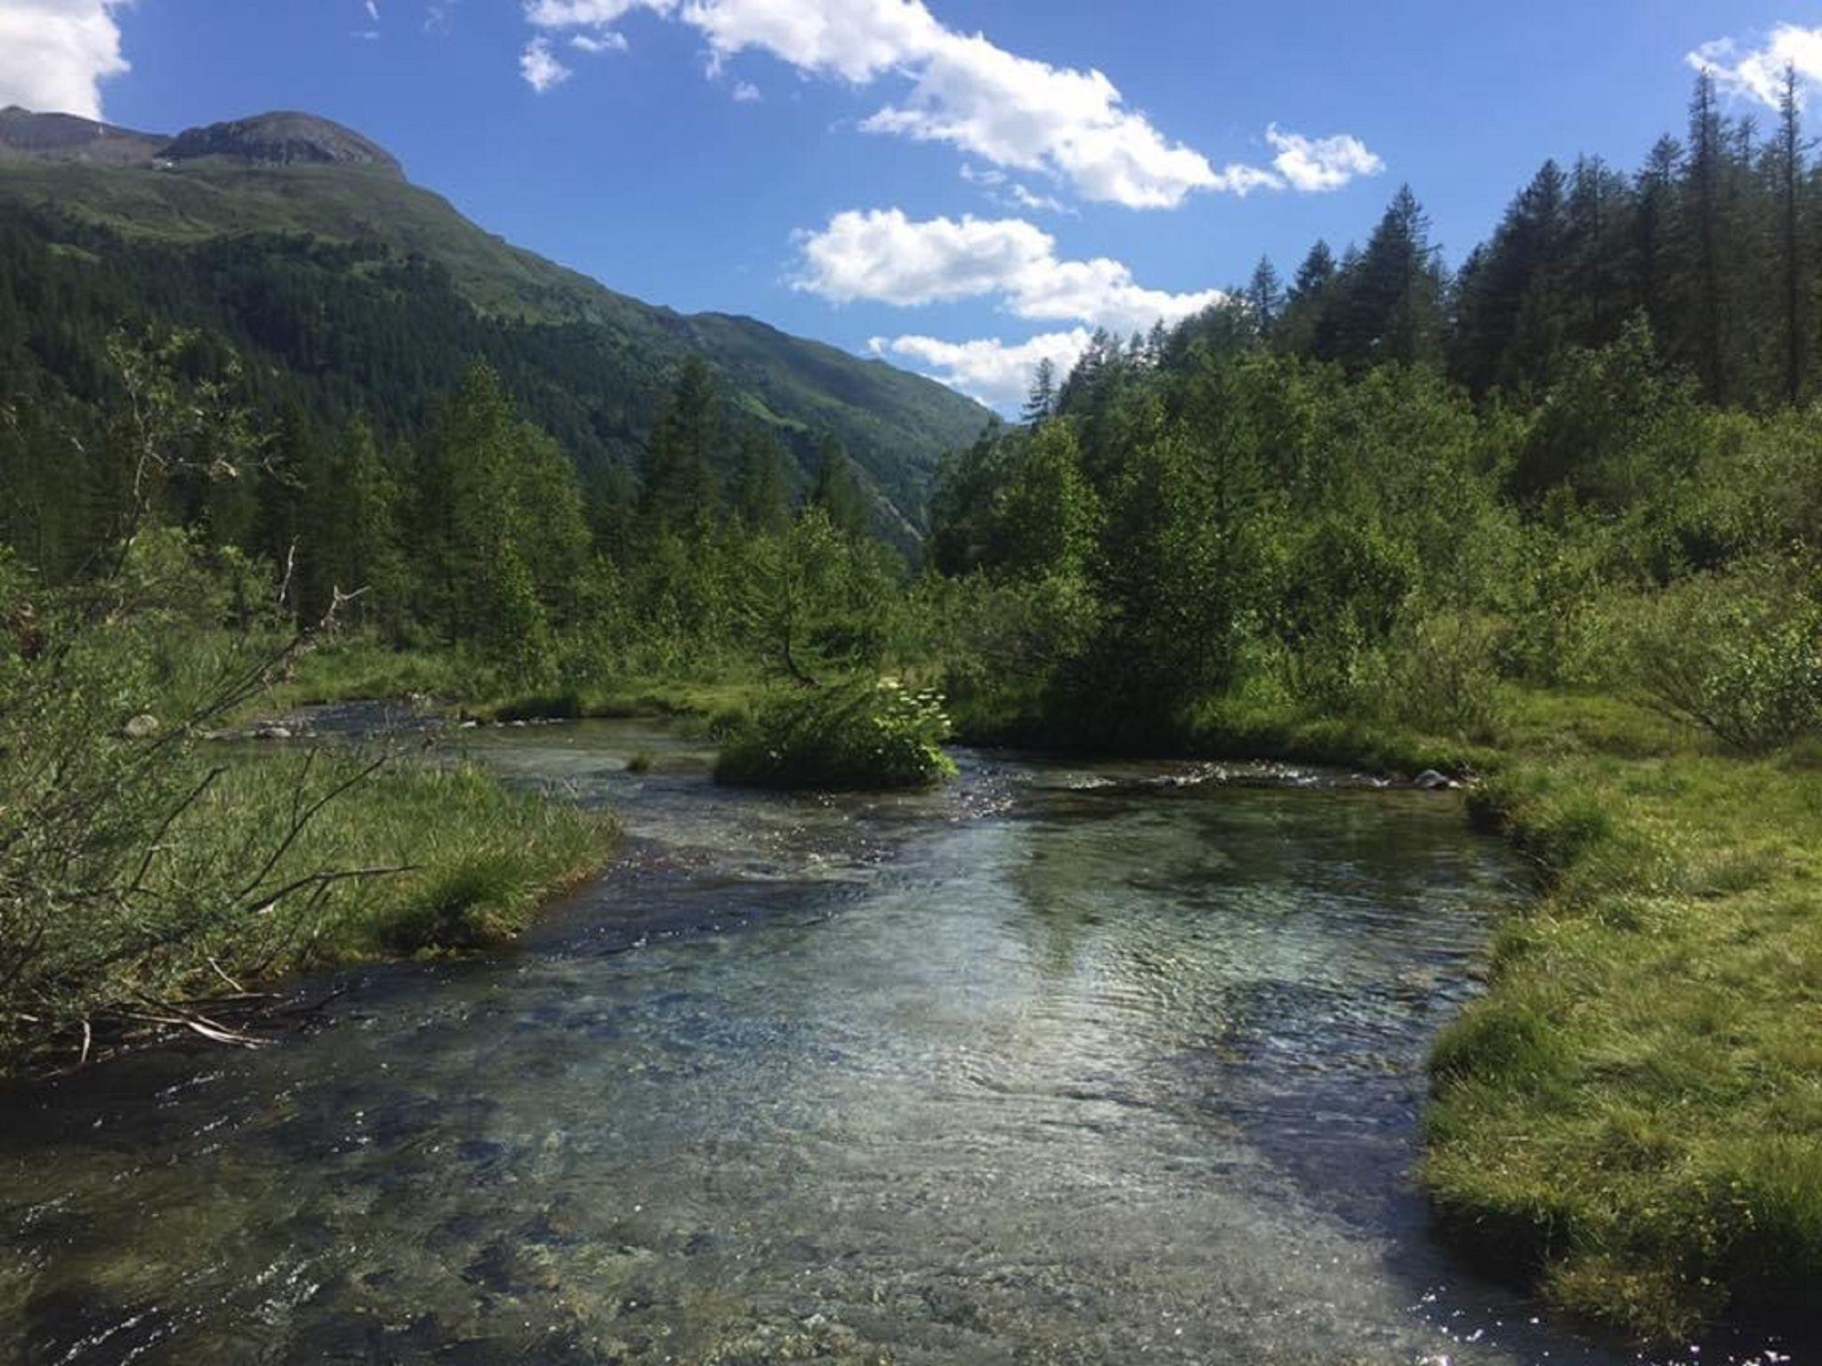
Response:
[[[853,86],[896,78],[907,89],[862,120],[880,135],[942,142],[1011,171],[1048,175],[1077,195],[1135,209],[1175,208],[1195,191],[1330,189],[1377,166],[1354,138],[1281,148],[1288,168],[1215,169],[1164,137],[1100,71],[1057,67],[958,33],[924,0],[525,0],[545,31],[610,31],[636,9],[678,18],[709,42],[711,71],[762,51],[798,71]],[[1046,197],[1026,189],[1031,204]]]

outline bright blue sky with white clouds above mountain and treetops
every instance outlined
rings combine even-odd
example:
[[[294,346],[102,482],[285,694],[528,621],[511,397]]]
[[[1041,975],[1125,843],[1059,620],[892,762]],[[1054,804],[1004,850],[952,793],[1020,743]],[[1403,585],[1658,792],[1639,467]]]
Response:
[[[1769,118],[1786,62],[1822,0],[0,0],[0,106],[319,113],[614,290],[1000,408],[1401,184],[1458,262],[1547,157],[1636,168],[1698,66]]]

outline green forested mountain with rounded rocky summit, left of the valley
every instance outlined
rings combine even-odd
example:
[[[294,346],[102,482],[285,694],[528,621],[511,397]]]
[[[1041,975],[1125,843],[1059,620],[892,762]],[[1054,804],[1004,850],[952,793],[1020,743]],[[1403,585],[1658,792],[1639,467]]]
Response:
[[[0,113],[0,403],[97,397],[120,324],[220,337],[262,406],[421,430],[474,357],[587,470],[629,466],[691,355],[731,428],[776,435],[807,481],[825,435],[911,543],[942,452],[980,404],[754,319],[614,293],[486,233],[359,133],[299,113],[138,133]],[[732,443],[729,443],[732,446]]]

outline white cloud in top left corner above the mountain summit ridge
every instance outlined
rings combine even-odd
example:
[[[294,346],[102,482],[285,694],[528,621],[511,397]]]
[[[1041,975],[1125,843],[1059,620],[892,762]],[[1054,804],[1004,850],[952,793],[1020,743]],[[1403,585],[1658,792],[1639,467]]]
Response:
[[[129,69],[115,13],[128,0],[0,0],[0,106],[102,117],[100,86]]]

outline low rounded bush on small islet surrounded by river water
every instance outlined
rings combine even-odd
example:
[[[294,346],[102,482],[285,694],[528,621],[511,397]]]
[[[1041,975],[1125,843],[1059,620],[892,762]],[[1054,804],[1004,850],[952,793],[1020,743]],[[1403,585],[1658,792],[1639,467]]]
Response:
[[[889,790],[955,776],[942,752],[949,718],[935,692],[896,679],[804,688],[765,701],[722,747],[720,783]]]

